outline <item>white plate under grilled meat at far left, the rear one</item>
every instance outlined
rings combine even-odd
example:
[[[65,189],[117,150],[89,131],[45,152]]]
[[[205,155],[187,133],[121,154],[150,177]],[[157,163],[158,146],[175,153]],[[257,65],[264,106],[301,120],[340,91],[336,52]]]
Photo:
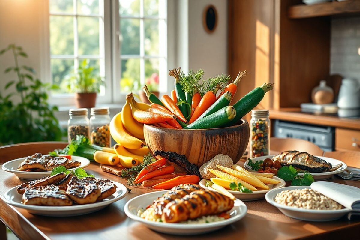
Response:
[[[18,158],[18,159],[6,162],[6,163],[3,164],[3,166],[1,166],[1,168],[6,172],[14,173],[16,176],[18,176],[18,178],[22,178],[22,179],[26,179],[26,180],[35,180],[35,179],[39,179],[39,178],[42,178],[42,177],[47,177],[47,176],[50,175],[51,171],[43,171],[43,172],[18,171],[17,169],[18,169],[19,164],[21,162],[23,162],[25,160],[25,158]],[[72,155],[71,159],[72,160],[77,160],[81,164],[78,167],[70,168],[68,170],[74,170],[76,168],[86,168],[87,166],[90,165],[90,160],[87,159],[87,158]]]

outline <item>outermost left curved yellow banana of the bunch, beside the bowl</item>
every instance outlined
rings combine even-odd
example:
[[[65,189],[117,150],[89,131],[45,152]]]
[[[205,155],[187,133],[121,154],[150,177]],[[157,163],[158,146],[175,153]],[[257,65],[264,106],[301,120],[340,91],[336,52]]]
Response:
[[[121,112],[116,114],[115,117],[110,122],[110,134],[113,139],[126,146],[126,148],[130,149],[138,149],[144,146],[143,141],[140,139],[131,136],[124,128],[121,122]]]

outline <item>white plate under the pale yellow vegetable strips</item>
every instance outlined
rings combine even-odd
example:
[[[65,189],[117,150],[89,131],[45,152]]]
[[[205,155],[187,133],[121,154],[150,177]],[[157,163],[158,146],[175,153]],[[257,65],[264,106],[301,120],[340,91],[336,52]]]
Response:
[[[267,184],[267,186],[270,188],[269,190],[260,190],[260,191],[253,191],[252,193],[242,193],[242,192],[239,192],[239,191],[233,191],[233,190],[229,190],[229,192],[231,194],[233,194],[235,196],[235,198],[237,199],[240,199],[242,201],[255,201],[255,200],[260,200],[260,199],[264,199],[265,198],[265,194],[267,192],[269,192],[271,189],[278,189],[280,187],[283,187],[285,186],[285,181],[282,180],[281,178],[279,177],[275,177],[273,176],[272,177],[273,179],[276,179],[276,180],[279,180],[280,183],[279,184]],[[208,189],[210,191],[214,191],[216,192],[215,189],[213,189],[212,187],[207,187],[205,185],[205,182],[206,180],[203,179],[200,181],[200,186],[203,188],[203,189]]]

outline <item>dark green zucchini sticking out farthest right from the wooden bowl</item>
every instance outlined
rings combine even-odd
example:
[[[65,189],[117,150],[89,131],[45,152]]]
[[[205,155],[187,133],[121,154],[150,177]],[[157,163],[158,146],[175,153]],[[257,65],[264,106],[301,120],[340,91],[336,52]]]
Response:
[[[274,89],[274,83],[264,83],[261,87],[257,87],[248,94],[242,97],[234,104],[236,110],[236,117],[226,126],[233,126],[239,122],[239,120],[248,114],[253,108],[260,103],[264,98],[265,93]]]

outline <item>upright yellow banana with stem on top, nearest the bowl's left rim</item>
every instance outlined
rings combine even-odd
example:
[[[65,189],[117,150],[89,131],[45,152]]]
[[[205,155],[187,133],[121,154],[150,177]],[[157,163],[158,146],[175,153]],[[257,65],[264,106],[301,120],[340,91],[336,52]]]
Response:
[[[132,95],[130,96],[129,94],[126,96],[126,103],[122,107],[121,121],[125,129],[129,131],[132,136],[139,139],[144,139],[144,124],[139,123],[134,119],[134,117],[132,117],[131,106],[129,102],[132,101],[132,99]]]

